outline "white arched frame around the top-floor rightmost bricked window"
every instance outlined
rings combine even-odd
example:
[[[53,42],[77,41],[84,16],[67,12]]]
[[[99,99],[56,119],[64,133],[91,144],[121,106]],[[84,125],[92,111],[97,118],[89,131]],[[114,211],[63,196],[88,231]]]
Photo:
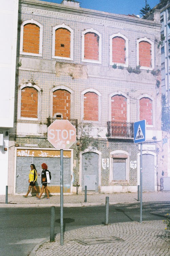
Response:
[[[137,66],[139,66],[139,43],[142,41],[148,42],[151,45],[151,67],[141,66],[140,69],[153,70],[154,66],[155,66],[155,64],[154,64],[154,44],[151,40],[149,40],[146,37],[140,38],[136,41],[137,42]]]

